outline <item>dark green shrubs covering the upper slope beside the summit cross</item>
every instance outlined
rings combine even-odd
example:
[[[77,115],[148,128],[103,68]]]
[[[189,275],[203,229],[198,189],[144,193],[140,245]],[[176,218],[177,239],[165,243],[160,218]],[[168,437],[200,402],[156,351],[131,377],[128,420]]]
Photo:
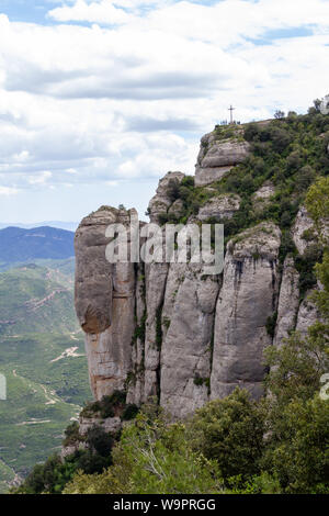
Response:
[[[232,236],[259,224],[273,221],[288,234],[308,187],[329,169],[328,142],[322,137],[329,131],[329,119],[321,113],[277,119],[268,124],[251,123],[243,127],[216,126],[215,139],[246,139],[251,143],[250,156],[234,167],[229,175],[208,188],[195,188],[190,178],[170,186],[171,200],[181,199],[184,213],[173,222],[186,223],[191,215],[212,197],[235,193],[241,198],[240,209],[225,225],[226,243]],[[243,135],[243,136],[242,136]],[[275,186],[275,194],[262,210],[256,211],[252,194],[265,182]],[[159,215],[161,224],[170,222],[168,213]],[[213,221],[218,222],[218,221]],[[284,246],[282,247],[284,251]],[[284,259],[285,255],[281,256]]]

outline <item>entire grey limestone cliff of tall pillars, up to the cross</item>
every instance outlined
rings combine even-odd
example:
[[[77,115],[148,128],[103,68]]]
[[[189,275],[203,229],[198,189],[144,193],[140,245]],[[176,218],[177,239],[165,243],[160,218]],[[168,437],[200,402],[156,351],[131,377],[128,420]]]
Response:
[[[241,209],[240,195],[213,184],[250,154],[242,134],[237,127],[229,138],[218,138],[218,131],[205,135],[193,187],[201,205],[184,220],[184,189],[191,178],[168,172],[149,203],[150,221],[231,221]],[[275,187],[264,181],[250,195],[254,213],[268,210],[274,194]],[[126,390],[127,403],[139,405],[157,396],[173,417],[237,385],[259,397],[263,349],[280,346],[296,327],[306,332],[316,317],[306,296],[300,303],[294,259],[280,257],[279,225],[266,220],[238,231],[226,243],[223,273],[204,276],[192,262],[111,265],[105,258],[106,227],[128,227],[133,215],[135,210],[102,206],[76,233],[76,309],[86,333],[94,397]],[[303,235],[311,225],[302,207],[290,229],[299,255],[307,249]]]

